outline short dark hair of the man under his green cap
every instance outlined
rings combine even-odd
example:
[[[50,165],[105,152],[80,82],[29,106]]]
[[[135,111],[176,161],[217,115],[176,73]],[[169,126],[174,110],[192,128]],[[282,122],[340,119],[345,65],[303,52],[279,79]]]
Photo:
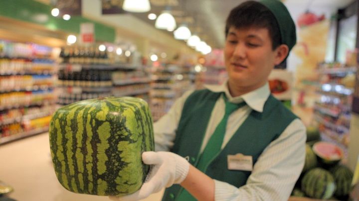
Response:
[[[273,13],[263,4],[250,0],[233,8],[226,20],[225,35],[227,37],[230,27],[235,28],[266,28],[272,39],[274,50],[281,42],[281,35],[278,22]]]

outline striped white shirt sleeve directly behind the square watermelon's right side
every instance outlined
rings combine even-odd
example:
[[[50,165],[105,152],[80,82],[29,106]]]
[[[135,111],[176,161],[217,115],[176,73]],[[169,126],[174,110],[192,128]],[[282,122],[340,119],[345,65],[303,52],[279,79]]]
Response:
[[[156,151],[169,151],[173,147],[184,102],[192,92],[193,90],[185,92],[175,101],[169,112],[154,123]]]

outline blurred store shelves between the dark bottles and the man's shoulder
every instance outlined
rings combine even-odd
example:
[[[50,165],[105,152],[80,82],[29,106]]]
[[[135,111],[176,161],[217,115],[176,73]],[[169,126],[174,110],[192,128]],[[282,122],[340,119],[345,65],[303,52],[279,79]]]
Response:
[[[174,64],[152,67],[150,107],[154,121],[166,114],[174,101],[185,91],[193,88],[190,71],[188,66],[180,67]]]

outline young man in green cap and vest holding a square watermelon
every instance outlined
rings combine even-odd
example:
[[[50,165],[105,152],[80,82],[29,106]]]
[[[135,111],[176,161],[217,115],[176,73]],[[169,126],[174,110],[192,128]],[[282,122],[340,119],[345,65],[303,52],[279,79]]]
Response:
[[[224,46],[228,80],[185,93],[155,123],[153,165],[140,200],[286,201],[305,159],[305,126],[269,91],[268,76],[296,42],[279,0],[246,1],[230,12]],[[171,152],[167,152],[171,151]],[[179,184],[179,185],[173,185]]]

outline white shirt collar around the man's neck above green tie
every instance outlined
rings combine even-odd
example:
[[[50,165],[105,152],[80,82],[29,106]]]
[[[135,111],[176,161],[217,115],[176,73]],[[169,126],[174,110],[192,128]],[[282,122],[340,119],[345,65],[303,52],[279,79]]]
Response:
[[[263,112],[264,103],[270,95],[268,82],[262,87],[239,97],[232,97],[229,94],[227,83],[228,80],[221,85],[204,85],[204,87],[212,92],[224,92],[230,102],[239,103],[245,101],[252,109],[258,112]]]

